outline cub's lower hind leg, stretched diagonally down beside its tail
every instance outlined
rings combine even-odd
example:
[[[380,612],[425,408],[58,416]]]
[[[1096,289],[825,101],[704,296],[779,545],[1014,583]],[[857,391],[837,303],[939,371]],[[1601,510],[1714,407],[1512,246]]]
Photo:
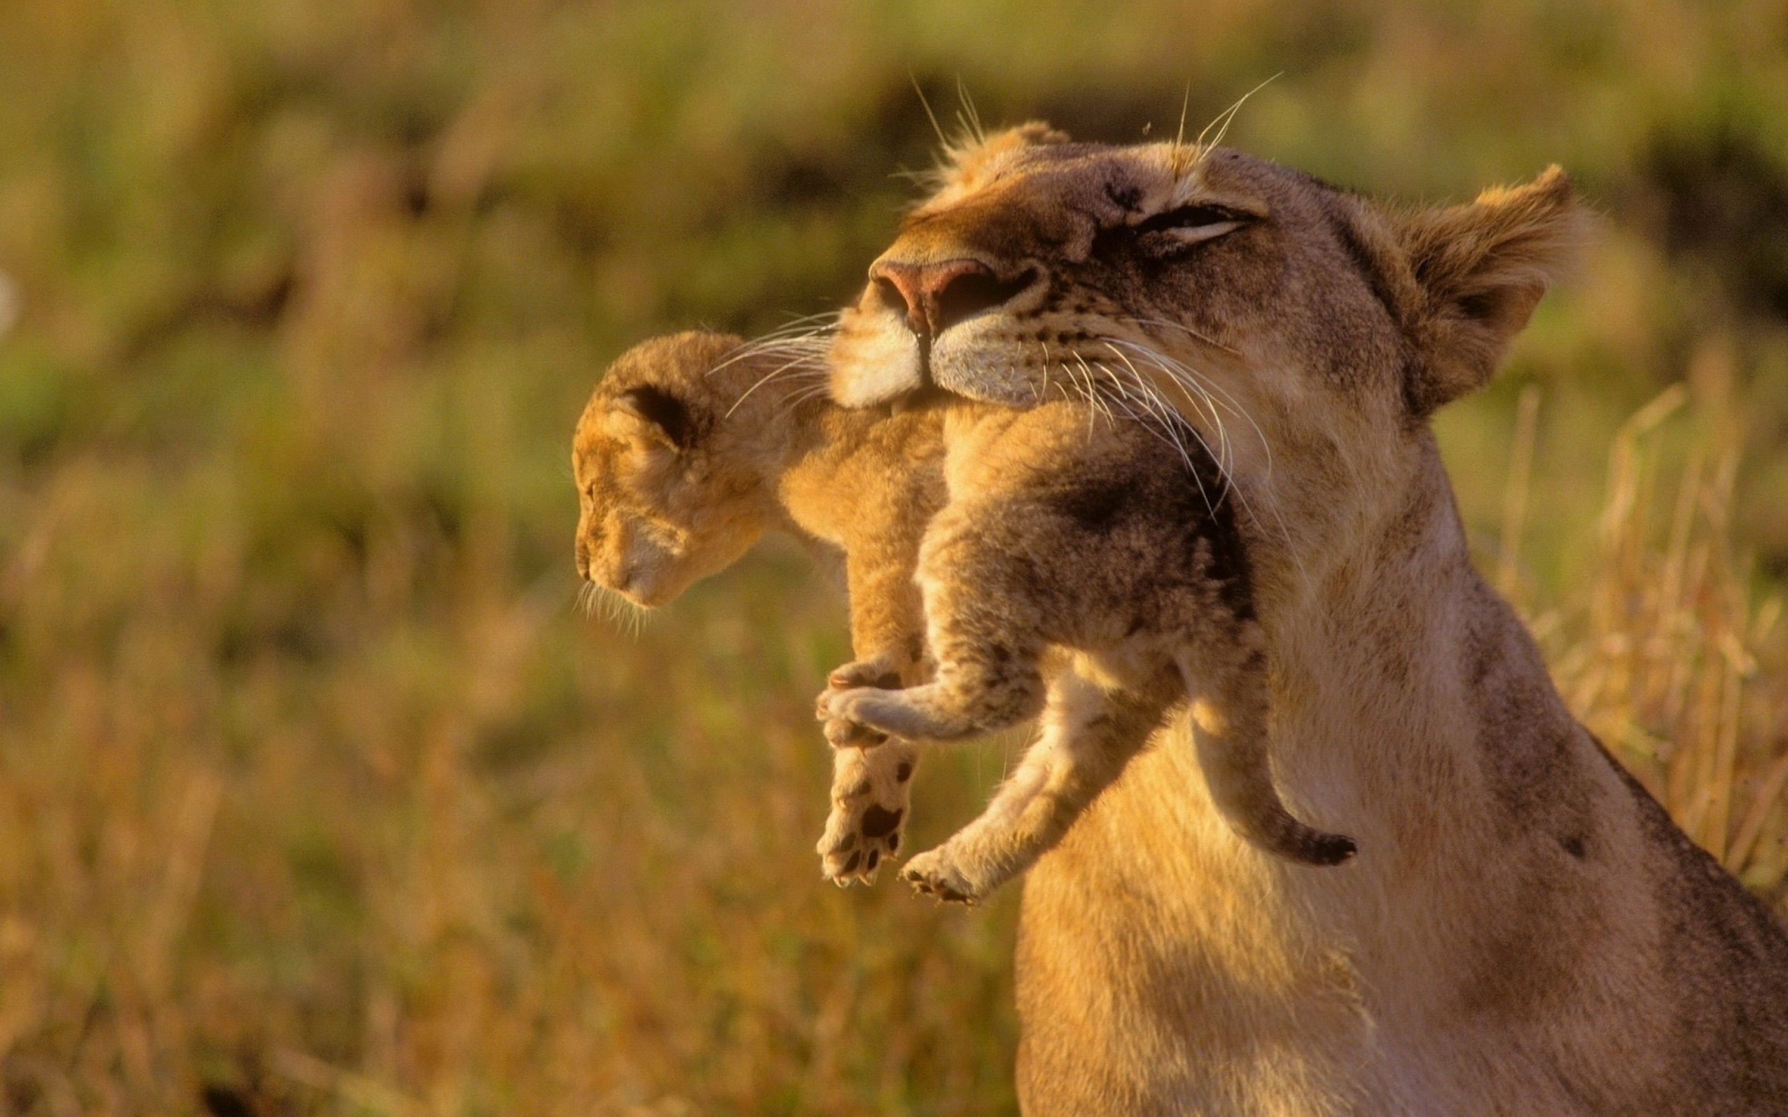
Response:
[[[1177,697],[1178,679],[1171,693]],[[1037,742],[982,815],[901,878],[944,901],[974,903],[1055,847],[1160,724],[1168,702],[1107,692],[1071,670],[1050,677]]]

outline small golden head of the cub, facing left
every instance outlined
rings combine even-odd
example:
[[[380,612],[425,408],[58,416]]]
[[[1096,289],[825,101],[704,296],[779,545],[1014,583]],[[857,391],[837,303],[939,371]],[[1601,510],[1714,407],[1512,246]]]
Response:
[[[737,429],[746,416],[728,420],[760,365],[738,338],[685,332],[610,366],[570,450],[585,581],[660,606],[756,542],[765,484]]]

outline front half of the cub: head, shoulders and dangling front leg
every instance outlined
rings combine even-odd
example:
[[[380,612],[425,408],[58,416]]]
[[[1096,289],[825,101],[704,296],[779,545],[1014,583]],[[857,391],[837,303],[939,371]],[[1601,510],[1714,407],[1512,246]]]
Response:
[[[724,570],[771,529],[842,572],[856,661],[833,686],[924,676],[912,570],[944,504],[935,413],[848,411],[824,393],[817,354],[790,343],[683,332],[622,354],[572,438],[578,574],[660,606]],[[889,740],[833,756],[824,874],[874,879],[899,849],[917,747]]]

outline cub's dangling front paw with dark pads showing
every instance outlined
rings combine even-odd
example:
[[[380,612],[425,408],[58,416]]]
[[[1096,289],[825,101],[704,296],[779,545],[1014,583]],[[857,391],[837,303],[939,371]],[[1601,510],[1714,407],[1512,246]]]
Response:
[[[819,838],[826,879],[844,886],[874,883],[876,870],[899,851],[917,749],[889,742],[880,749],[840,749],[833,758],[831,815]]]

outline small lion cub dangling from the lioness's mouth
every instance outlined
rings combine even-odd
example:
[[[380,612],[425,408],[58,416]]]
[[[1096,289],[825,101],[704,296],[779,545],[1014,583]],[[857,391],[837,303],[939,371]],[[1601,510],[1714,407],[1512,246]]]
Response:
[[[915,738],[1042,710],[987,811],[905,872],[944,899],[985,895],[1067,831],[1187,692],[1205,699],[1212,799],[1244,838],[1318,865],[1354,852],[1273,790],[1262,636],[1214,463],[1187,472],[1087,404],[887,416],[830,404],[822,375],[805,354],[721,334],[645,341],[585,407],[572,470],[578,572],[635,604],[669,602],[765,529],[842,563],[858,659],[821,697],[840,745],[826,876],[873,879],[899,847]],[[935,683],[894,690],[926,676],[926,618]]]

